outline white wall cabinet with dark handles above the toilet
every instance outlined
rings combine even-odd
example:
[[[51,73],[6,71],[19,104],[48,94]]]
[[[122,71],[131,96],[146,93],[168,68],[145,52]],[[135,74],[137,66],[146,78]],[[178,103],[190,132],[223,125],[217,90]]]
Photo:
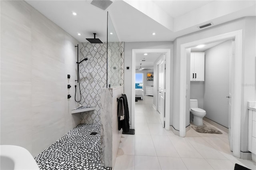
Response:
[[[190,81],[204,81],[204,53],[190,53]]]

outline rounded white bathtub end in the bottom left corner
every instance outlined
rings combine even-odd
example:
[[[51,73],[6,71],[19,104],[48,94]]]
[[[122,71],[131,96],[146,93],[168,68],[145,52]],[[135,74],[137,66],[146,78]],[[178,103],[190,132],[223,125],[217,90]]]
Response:
[[[20,146],[0,145],[0,170],[39,170],[33,156]]]

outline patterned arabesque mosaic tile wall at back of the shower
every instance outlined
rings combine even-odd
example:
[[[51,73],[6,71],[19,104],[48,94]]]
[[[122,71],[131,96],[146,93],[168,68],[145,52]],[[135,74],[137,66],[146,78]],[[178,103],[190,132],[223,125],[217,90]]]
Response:
[[[107,87],[107,43],[91,44],[81,43],[80,60],[88,58],[79,65],[81,82],[81,104],[93,106],[94,111],[81,113],[81,123],[100,123],[100,88]],[[109,42],[108,57],[108,78],[111,86],[124,84],[124,42]],[[121,55],[122,54],[122,55]],[[113,58],[113,59],[112,59]],[[112,67],[112,69],[109,69]],[[114,69],[113,67],[116,67]],[[112,72],[111,72],[112,71]],[[118,74],[119,73],[119,74]],[[120,79],[119,78],[120,76]]]

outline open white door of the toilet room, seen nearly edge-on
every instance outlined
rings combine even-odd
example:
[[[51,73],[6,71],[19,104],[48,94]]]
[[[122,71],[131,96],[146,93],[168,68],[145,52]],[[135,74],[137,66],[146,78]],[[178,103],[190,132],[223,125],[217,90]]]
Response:
[[[229,140],[229,145],[230,145],[230,150],[233,151],[233,134],[232,134],[232,83],[234,81],[234,56],[235,56],[235,42],[232,41],[232,48],[230,50],[230,55],[229,55],[229,91],[228,91],[228,140]]]

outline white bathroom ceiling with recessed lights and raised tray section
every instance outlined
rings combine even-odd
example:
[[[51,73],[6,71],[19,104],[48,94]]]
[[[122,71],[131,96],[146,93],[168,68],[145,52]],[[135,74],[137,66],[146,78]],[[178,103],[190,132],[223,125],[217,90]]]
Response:
[[[118,36],[120,42],[173,41],[199,31],[198,26],[208,22],[216,26],[256,15],[255,0],[112,0],[106,10],[90,4],[92,0],[26,2],[79,42],[87,42],[94,32],[96,38],[107,41],[107,11],[116,31],[113,36]]]

